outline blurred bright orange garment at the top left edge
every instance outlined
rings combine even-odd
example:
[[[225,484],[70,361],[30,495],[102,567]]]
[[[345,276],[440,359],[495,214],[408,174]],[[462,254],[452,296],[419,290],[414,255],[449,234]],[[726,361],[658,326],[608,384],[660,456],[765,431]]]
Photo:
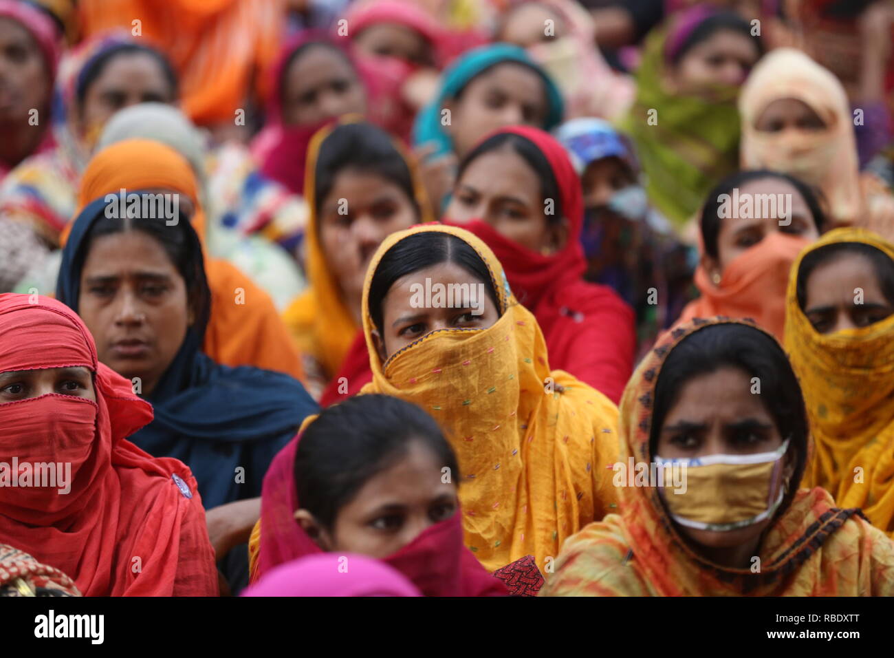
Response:
[[[273,64],[280,0],[81,0],[83,36],[114,28],[157,43],[180,74],[183,109],[197,124],[230,122]],[[263,92],[263,90],[262,90]]]

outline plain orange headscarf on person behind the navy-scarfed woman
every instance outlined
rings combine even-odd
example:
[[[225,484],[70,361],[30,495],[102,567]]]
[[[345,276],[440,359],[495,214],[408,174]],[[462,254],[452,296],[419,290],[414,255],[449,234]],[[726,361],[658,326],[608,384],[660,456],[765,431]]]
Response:
[[[125,140],[99,151],[78,189],[78,210],[110,192],[163,189],[181,192],[195,206],[193,226],[204,236],[205,214],[190,163],[177,151],[152,140]],[[69,226],[72,226],[71,224]],[[63,235],[64,240],[68,237]],[[203,351],[217,363],[253,365],[303,377],[299,354],[273,300],[226,261],[205,255],[211,287],[211,320]]]

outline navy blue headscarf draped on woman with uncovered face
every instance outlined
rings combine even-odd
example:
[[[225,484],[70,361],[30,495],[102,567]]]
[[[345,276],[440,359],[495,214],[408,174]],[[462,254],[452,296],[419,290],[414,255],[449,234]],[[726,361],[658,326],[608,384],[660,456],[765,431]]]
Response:
[[[118,204],[118,196],[106,198]],[[105,208],[105,199],[97,199],[83,209],[63,249],[56,298],[75,312],[93,228],[105,218]],[[139,227],[141,222],[164,219],[131,221]],[[202,502],[210,509],[260,496],[264,474],[274,455],[295,436],[304,418],[316,414],[319,407],[289,375],[250,366],[232,368],[215,363],[201,352],[211,312],[201,244],[183,213],[169,228],[182,231],[186,241],[186,271],[181,271],[181,276],[190,299],[196,300],[196,320],[173,362],[146,396],[155,420],[130,440],[151,455],[176,457],[190,466]]]

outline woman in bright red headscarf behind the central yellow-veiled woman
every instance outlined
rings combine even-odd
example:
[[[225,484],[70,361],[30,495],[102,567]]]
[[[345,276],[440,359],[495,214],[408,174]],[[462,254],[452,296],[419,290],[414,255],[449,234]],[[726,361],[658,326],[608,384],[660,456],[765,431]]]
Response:
[[[512,292],[544,331],[550,365],[616,404],[633,371],[633,311],[608,286],[587,283],[580,181],[546,132],[513,126],[460,164],[445,224],[493,249]]]

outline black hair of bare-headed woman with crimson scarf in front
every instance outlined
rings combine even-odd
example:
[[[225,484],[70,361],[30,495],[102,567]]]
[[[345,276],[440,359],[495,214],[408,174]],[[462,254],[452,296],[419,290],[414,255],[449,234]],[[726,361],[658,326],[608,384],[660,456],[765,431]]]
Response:
[[[362,395],[325,409],[301,436],[295,453],[295,485],[301,508],[331,530],[339,510],[370,478],[418,442],[460,482],[460,467],[434,419],[398,397]]]

